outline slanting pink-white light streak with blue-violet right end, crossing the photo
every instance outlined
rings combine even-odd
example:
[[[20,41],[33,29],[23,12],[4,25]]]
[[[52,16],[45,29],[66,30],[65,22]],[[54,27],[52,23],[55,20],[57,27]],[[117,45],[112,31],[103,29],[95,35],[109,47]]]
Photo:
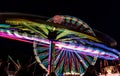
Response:
[[[25,36],[25,34],[20,35],[20,34],[18,34],[18,32],[11,33],[10,30],[7,30],[6,32],[1,31],[0,36],[5,37],[5,38],[14,39],[14,40],[23,41],[23,42],[29,42],[29,43],[33,43],[33,41],[37,41],[40,43],[50,44],[50,40],[48,40],[48,39],[35,38],[34,36],[28,37],[27,35]],[[76,44],[73,45],[73,44],[63,43],[63,42],[59,42],[59,41],[53,41],[53,43],[55,44],[56,47],[58,47],[57,49],[66,49],[66,51],[68,50],[71,52],[78,52],[78,53],[82,53],[82,54],[86,54],[86,55],[90,55],[90,56],[95,56],[95,57],[97,56],[99,58],[104,58],[104,59],[108,59],[108,60],[118,59],[119,57],[113,53],[110,53],[109,51],[104,52],[104,50],[111,50],[111,51],[114,51],[115,53],[117,53],[118,55],[120,55],[120,53],[117,52],[117,50],[109,48],[109,47],[99,44],[99,43],[95,43],[95,42],[86,41],[86,43],[89,43],[89,44],[92,44],[95,46],[99,46],[104,49],[92,48],[92,47],[87,47],[87,46],[82,46],[82,45],[76,46]]]

